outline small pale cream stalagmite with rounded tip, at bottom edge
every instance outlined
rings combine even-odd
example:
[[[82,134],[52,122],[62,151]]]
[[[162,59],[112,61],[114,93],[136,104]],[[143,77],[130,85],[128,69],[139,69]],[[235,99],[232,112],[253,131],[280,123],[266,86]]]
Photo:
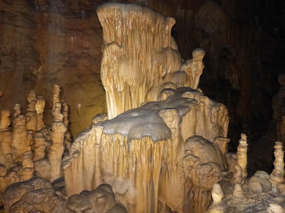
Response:
[[[223,213],[225,212],[227,206],[223,203],[222,198],[224,196],[221,186],[218,183],[213,185],[211,191],[213,198],[213,203],[209,208],[209,213]]]

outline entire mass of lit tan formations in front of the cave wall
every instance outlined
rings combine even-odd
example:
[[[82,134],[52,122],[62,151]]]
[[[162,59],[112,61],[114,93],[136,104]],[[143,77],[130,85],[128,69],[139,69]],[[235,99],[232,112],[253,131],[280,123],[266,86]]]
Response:
[[[229,153],[227,108],[198,88],[205,51],[182,62],[174,18],[147,7],[105,3],[97,14],[108,113],[94,115],[73,141],[59,84],[51,125],[34,90],[26,110],[2,110],[4,212],[284,213],[283,77],[273,99],[281,141],[274,170],[248,177],[247,136]]]

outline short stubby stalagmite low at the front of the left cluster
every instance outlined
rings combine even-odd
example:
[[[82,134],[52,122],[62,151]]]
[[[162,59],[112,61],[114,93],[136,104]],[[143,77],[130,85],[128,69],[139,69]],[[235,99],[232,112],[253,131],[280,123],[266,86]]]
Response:
[[[20,181],[25,181],[33,177],[34,175],[34,162],[32,151],[24,152],[21,157],[23,163],[23,174],[20,177]]]

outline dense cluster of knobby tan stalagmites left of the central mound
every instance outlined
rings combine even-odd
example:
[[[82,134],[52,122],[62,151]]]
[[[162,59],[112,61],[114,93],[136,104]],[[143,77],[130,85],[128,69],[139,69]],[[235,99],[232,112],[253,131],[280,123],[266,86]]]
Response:
[[[67,103],[63,104],[63,115],[59,96],[60,85],[54,84],[53,99],[57,102],[52,111],[54,121],[51,127],[43,121],[46,101],[43,96],[36,96],[34,90],[28,94],[28,107],[24,112],[19,104],[15,104],[12,124],[11,111],[1,111],[0,193],[11,183],[25,181],[34,176],[51,181],[62,176],[64,140],[70,141],[71,137],[67,135],[65,139],[68,129],[65,125],[68,125],[68,106]]]

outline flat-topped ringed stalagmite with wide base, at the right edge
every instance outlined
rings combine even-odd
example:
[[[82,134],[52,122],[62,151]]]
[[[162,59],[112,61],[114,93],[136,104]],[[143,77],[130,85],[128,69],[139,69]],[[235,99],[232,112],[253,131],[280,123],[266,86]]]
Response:
[[[269,175],[269,181],[272,184],[272,187],[276,187],[278,183],[284,182],[284,151],[282,150],[283,144],[282,142],[275,142],[274,146],[274,157],[275,160],[273,162],[274,164],[274,170]]]

